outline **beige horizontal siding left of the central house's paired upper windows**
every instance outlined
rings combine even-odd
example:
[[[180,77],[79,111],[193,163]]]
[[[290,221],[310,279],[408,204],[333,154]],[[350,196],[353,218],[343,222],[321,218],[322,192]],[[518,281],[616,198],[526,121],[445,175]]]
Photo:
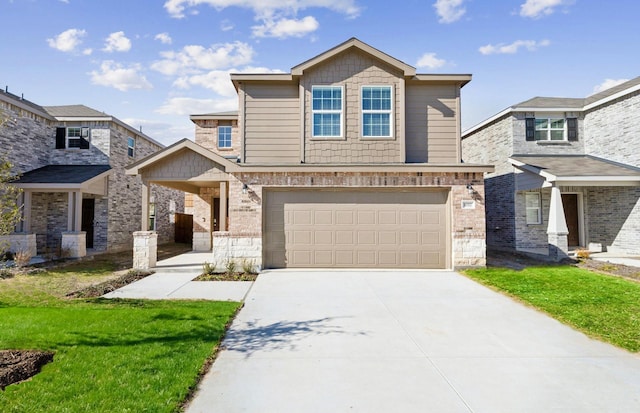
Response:
[[[300,163],[296,84],[244,85],[246,163]]]

